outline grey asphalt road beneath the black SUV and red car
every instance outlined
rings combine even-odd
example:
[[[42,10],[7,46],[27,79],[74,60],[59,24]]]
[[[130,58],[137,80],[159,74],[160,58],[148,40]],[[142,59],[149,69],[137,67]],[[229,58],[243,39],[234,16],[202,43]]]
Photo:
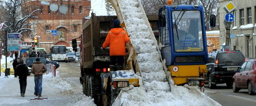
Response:
[[[206,88],[206,95],[222,106],[255,106],[256,104],[256,95],[249,95],[247,89],[235,93],[232,87],[226,84],[218,84],[215,89]]]

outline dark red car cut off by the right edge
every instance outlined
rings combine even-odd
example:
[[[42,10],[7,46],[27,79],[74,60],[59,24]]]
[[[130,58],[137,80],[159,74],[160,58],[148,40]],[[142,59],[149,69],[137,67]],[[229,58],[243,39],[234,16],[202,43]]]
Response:
[[[248,88],[248,93],[253,95],[256,93],[256,59],[245,61],[241,67],[234,70],[236,74],[233,76],[233,91],[238,92],[241,88]]]

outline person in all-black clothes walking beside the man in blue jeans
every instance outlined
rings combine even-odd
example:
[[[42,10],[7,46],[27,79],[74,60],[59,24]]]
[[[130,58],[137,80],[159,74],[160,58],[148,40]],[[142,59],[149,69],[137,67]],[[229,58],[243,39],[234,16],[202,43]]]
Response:
[[[19,63],[20,64],[17,65],[16,70],[20,82],[20,95],[24,97],[27,86],[28,67],[26,66],[26,64],[24,64],[24,61],[22,59],[19,60]]]

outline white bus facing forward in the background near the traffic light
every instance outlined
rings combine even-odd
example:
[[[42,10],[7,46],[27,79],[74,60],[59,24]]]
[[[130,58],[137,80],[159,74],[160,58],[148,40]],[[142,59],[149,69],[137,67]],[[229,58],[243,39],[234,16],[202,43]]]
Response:
[[[51,61],[65,61],[67,49],[65,45],[51,46]]]

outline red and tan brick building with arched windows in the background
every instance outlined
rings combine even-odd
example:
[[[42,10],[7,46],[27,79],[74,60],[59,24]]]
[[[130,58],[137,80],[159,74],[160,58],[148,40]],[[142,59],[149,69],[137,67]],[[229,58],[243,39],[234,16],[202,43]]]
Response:
[[[68,12],[65,14],[60,13],[59,10],[51,11],[50,6],[41,5],[41,1],[44,0],[27,0],[26,2],[31,10],[42,9],[36,13],[38,18],[30,20],[31,23],[37,23],[31,28],[34,29],[32,32],[34,35],[40,36],[39,47],[46,48],[46,52],[50,52],[51,45],[71,47],[72,39],[82,34],[82,19],[89,16],[91,0],[50,0],[50,4],[56,3],[59,7],[62,4],[66,5]],[[45,1],[49,2],[49,0]],[[57,30],[62,35],[54,36],[46,30]],[[25,39],[25,41],[31,42],[32,39]]]

